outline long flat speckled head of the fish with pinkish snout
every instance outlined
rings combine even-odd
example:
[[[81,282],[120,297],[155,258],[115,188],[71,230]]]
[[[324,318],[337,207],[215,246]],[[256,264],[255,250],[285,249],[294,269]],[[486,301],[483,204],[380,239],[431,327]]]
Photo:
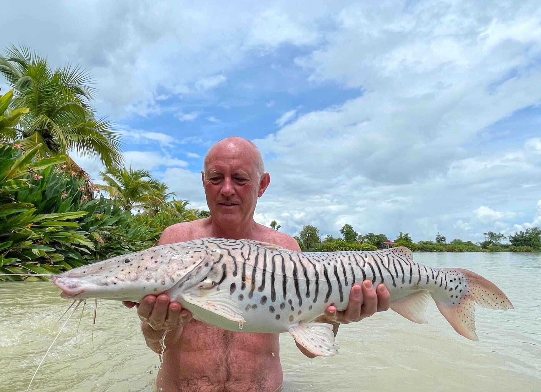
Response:
[[[62,298],[102,298],[140,302],[178,285],[186,288],[204,279],[215,252],[189,243],[160,245],[101,262],[83,265],[51,277]]]

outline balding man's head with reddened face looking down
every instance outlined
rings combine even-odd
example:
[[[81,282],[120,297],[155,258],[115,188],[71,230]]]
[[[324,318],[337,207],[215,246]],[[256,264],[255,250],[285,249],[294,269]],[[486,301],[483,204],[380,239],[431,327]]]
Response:
[[[201,174],[213,219],[233,227],[253,218],[258,198],[270,182],[258,148],[239,136],[212,146]]]

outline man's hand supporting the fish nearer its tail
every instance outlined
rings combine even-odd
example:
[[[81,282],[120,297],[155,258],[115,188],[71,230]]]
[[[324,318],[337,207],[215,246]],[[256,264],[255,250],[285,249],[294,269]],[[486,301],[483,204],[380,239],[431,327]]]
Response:
[[[389,309],[391,295],[384,284],[379,284],[377,290],[371,280],[366,279],[362,285],[355,284],[349,293],[349,303],[347,309],[337,311],[335,306],[331,305],[325,310],[325,315],[319,317],[316,321],[333,324],[348,324],[354,321],[360,321],[365,317],[372,316],[375,312],[381,312]]]

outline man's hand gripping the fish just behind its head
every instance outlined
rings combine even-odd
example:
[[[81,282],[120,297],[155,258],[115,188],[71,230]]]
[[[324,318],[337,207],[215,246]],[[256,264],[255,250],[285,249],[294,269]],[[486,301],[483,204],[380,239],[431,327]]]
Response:
[[[137,315],[141,321],[156,331],[179,329],[192,319],[192,313],[188,309],[182,309],[182,305],[178,302],[169,302],[169,297],[165,294],[157,297],[148,295],[140,304],[135,302],[123,304],[127,308],[137,306]]]

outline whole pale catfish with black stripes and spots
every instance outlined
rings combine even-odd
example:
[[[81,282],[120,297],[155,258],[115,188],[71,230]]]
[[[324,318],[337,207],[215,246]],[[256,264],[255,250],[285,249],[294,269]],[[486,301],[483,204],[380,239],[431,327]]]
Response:
[[[478,340],[474,303],[513,309],[493,283],[464,269],[413,262],[406,247],[295,252],[254,240],[203,238],[151,247],[51,277],[63,298],[141,302],[164,293],[201,322],[237,332],[289,332],[318,356],[338,352],[332,325],[314,322],[334,304],[347,308],[354,283],[386,285],[390,308],[426,323],[428,298],[462,336]]]

